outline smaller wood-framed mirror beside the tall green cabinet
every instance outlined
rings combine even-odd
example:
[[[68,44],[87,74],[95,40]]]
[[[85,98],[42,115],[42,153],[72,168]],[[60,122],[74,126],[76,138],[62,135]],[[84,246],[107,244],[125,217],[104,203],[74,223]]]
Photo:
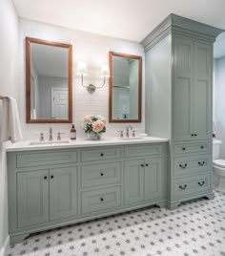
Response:
[[[110,52],[109,122],[141,122],[142,57]]]

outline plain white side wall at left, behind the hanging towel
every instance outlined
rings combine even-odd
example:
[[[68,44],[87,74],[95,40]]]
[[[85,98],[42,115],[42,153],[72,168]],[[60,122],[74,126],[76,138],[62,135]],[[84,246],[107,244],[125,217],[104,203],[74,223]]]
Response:
[[[0,36],[0,96],[13,96],[18,99],[18,18],[10,0],[0,1]],[[0,255],[3,253],[3,245],[8,235],[7,170],[4,147],[5,144],[0,144]]]

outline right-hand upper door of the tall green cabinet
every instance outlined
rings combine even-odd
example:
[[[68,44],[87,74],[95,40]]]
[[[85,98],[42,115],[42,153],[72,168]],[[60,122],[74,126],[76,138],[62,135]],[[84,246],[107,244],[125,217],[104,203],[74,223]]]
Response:
[[[194,43],[194,134],[212,138],[212,46]]]

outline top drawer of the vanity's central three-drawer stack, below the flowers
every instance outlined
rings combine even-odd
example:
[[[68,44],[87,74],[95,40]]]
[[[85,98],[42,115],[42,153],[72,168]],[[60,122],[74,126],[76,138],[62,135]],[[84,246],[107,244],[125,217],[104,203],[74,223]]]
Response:
[[[99,147],[94,149],[81,150],[82,161],[113,160],[113,159],[119,159],[120,155],[121,155],[120,147]]]

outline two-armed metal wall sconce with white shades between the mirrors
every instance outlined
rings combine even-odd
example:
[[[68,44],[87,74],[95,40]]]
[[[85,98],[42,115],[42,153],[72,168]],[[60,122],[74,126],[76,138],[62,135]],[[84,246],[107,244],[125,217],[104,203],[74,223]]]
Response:
[[[77,74],[81,75],[81,85],[87,88],[87,91],[92,94],[96,89],[102,88],[106,83],[106,78],[110,77],[109,66],[102,65],[101,68],[101,77],[103,77],[103,83],[101,86],[95,86],[92,83],[90,85],[84,85],[84,75],[87,75],[87,63],[83,61],[78,62]]]

